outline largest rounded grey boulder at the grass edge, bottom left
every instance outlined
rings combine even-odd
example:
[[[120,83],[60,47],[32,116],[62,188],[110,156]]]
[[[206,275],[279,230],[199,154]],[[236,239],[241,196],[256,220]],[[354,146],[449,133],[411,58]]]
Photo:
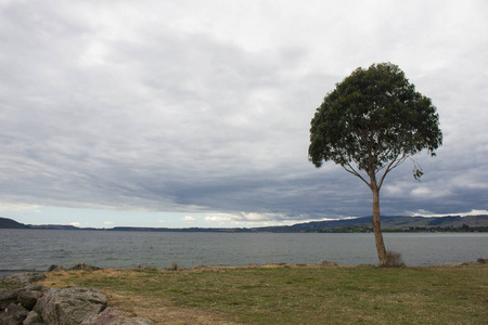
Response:
[[[102,312],[107,299],[93,288],[72,287],[47,290],[35,307],[44,323],[75,325],[84,323]]]

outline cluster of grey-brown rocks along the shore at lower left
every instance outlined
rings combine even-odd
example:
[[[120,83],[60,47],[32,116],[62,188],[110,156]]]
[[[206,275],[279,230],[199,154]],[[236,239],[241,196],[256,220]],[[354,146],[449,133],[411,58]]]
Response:
[[[77,264],[68,270],[98,270]],[[51,269],[51,268],[50,268]],[[59,266],[54,268],[60,270]],[[53,270],[50,270],[53,271]],[[93,288],[48,288],[36,284],[43,273],[27,272],[0,280],[0,324],[5,325],[153,325],[143,317],[107,307],[105,295]]]

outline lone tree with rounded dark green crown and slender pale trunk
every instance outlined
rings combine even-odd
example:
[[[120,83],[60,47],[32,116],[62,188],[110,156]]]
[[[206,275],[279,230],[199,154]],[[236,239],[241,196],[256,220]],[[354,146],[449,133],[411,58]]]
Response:
[[[373,193],[373,230],[380,264],[388,264],[380,219],[385,177],[426,148],[442,144],[439,116],[431,99],[415,91],[391,63],[357,68],[328,93],[311,120],[310,161],[332,160],[361,179]],[[414,164],[413,177],[423,172]]]

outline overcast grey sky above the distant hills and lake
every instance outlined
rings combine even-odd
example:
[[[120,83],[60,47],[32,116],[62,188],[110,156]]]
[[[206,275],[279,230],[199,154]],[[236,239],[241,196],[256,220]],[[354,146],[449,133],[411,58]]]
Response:
[[[487,213],[488,2],[0,0],[0,216],[81,226],[257,226],[372,213],[308,161],[357,67],[397,64],[444,145],[382,214]]]

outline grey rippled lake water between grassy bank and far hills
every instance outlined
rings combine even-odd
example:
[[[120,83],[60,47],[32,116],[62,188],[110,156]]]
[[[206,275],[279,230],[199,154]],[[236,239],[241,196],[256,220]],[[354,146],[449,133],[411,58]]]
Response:
[[[385,233],[407,265],[488,258],[487,233]],[[249,263],[377,264],[373,234],[153,233],[0,230],[0,272],[46,271],[84,262],[102,268],[247,265]]]

